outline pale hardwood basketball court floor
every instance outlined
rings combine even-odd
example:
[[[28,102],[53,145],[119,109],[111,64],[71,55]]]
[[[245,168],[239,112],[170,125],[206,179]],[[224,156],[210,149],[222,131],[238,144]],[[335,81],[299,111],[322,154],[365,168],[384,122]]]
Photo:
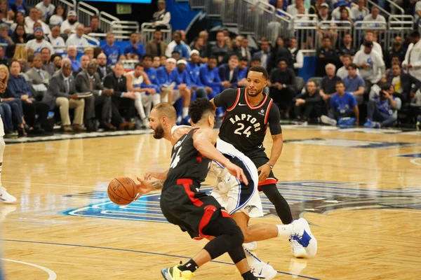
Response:
[[[421,153],[420,134],[284,128],[283,135],[279,189],[294,218],[313,224],[319,251],[296,260],[286,239],[260,241],[256,252],[279,271],[276,279],[420,279],[421,162],[396,157]],[[269,137],[265,146],[270,151]],[[192,257],[205,241],[145,221],[162,220],[159,195],[126,208],[107,203],[110,179],[166,169],[170,153],[149,134],[6,146],[2,180],[18,198],[0,208],[6,279],[154,280]],[[226,255],[218,261],[194,279],[241,279]]]

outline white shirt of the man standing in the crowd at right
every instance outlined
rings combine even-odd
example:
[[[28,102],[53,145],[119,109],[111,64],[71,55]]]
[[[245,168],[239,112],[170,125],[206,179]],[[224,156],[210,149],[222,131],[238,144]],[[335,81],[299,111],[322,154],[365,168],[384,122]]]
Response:
[[[382,68],[385,67],[385,62],[375,50],[371,50],[369,54],[359,50],[356,52],[352,62],[355,64],[368,64],[368,69],[359,69],[363,79],[370,80],[371,83],[377,83],[382,78]]]

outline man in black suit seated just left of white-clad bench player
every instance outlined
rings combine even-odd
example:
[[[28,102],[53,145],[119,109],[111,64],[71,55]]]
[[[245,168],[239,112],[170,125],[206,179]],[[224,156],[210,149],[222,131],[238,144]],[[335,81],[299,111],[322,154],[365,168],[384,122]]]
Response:
[[[119,130],[133,130],[135,123],[135,93],[128,92],[126,76],[123,76],[124,66],[121,62],[114,65],[112,73],[104,79],[104,87],[114,90],[112,94],[112,125]],[[124,114],[125,120],[121,117]]]

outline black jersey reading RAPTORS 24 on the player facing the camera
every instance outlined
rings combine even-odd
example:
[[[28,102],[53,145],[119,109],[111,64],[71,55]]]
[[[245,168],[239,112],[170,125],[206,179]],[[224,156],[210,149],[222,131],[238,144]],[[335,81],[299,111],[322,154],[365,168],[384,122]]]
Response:
[[[246,88],[237,90],[234,105],[227,108],[220,127],[220,139],[232,144],[241,152],[262,148],[265,139],[272,98],[263,94],[258,106],[250,106],[246,99]]]

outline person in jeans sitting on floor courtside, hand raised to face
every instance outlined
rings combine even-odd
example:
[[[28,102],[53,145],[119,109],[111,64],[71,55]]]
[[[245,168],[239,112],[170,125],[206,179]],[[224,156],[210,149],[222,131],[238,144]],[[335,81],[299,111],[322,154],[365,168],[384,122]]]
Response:
[[[373,92],[367,104],[367,121],[364,127],[391,127],[396,122],[395,111],[400,109],[401,100],[394,97],[394,86],[387,83],[379,92]]]

